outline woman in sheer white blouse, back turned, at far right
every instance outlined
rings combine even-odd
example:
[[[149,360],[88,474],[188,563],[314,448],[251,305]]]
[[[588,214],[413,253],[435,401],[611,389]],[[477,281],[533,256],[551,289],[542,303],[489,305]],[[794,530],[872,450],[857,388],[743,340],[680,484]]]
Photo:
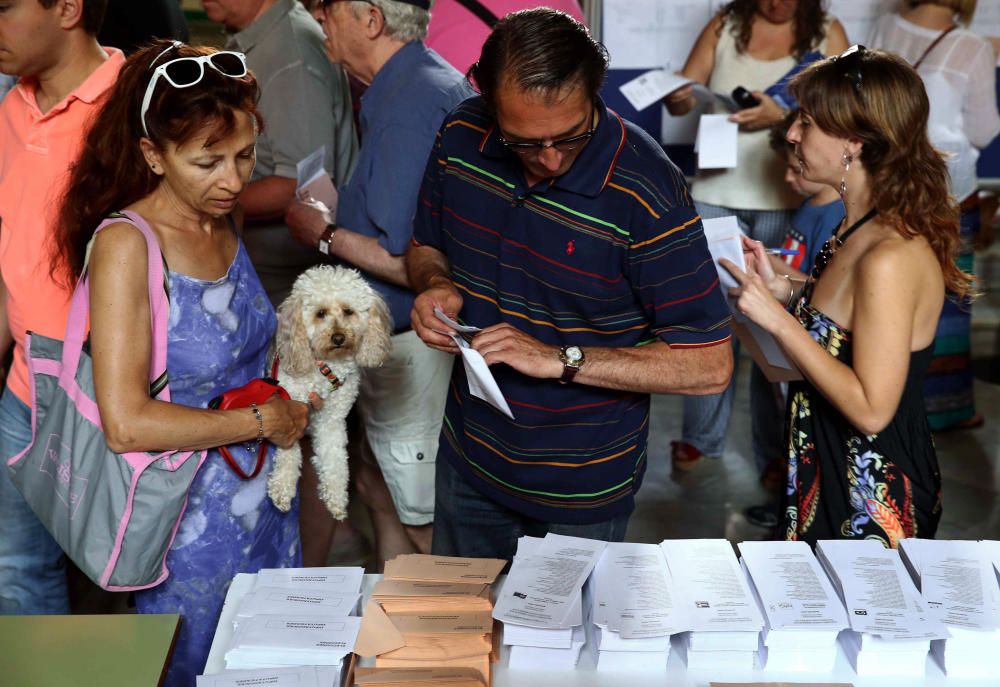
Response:
[[[976,161],[980,149],[1000,133],[993,46],[959,26],[971,22],[975,11],[976,0],[910,0],[901,14],[879,20],[868,41],[902,57],[923,79],[931,103],[927,133],[934,147],[948,154],[951,195],[961,208],[958,264],[967,272],[973,271],[972,242],[980,225]],[[935,431],[983,423],[972,395],[971,307],[949,298],[938,321],[924,384]]]

